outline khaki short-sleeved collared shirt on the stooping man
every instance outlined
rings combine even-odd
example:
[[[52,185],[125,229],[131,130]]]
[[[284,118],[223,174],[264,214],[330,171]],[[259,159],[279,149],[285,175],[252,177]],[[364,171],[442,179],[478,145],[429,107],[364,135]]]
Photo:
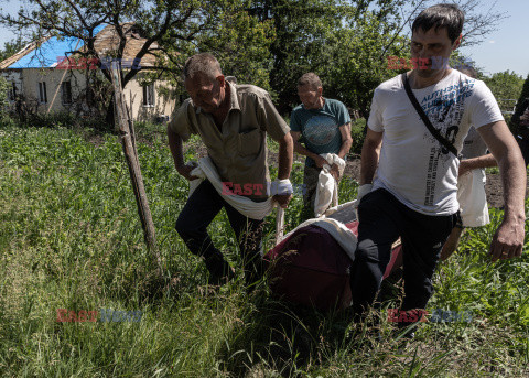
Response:
[[[220,179],[234,194],[262,201],[270,182],[267,132],[280,140],[290,129],[264,89],[228,85],[230,106],[222,130],[213,116],[195,107],[191,99],[182,104],[169,126],[184,141],[193,133],[201,136]]]

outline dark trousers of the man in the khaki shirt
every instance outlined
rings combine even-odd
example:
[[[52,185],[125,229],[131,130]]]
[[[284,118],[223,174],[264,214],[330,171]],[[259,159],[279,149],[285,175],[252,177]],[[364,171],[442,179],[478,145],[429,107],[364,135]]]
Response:
[[[251,219],[237,212],[223,199],[209,181],[204,180],[187,199],[176,220],[176,231],[193,255],[202,256],[206,260],[210,272],[212,269],[218,268],[219,263],[227,267],[223,253],[215,248],[207,234],[207,226],[223,207],[238,240],[246,281],[255,282],[261,274],[260,249],[263,220]],[[210,261],[215,261],[215,266],[208,264]]]

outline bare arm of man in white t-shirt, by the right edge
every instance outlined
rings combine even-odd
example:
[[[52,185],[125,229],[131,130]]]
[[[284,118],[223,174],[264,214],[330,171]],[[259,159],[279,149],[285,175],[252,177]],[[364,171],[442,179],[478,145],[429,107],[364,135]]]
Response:
[[[518,143],[505,121],[477,128],[498,162],[504,185],[505,214],[490,244],[493,261],[521,256],[525,237],[526,166]]]

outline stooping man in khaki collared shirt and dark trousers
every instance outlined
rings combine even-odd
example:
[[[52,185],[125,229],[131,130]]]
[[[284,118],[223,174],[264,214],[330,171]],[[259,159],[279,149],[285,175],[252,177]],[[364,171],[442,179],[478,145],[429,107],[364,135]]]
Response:
[[[192,133],[201,136],[225,185],[237,195],[266,201],[270,193],[267,165],[267,132],[279,142],[278,180],[290,176],[293,142],[290,129],[273,107],[264,89],[226,82],[217,60],[207,53],[190,57],[184,66],[184,85],[190,99],[176,110],[168,125],[168,137],[176,170],[187,180],[193,166],[184,163],[182,141]],[[283,185],[273,196],[287,207],[292,186]],[[209,282],[222,283],[233,269],[215,248],[207,226],[222,208],[238,239],[247,284],[260,278],[262,219],[251,219],[231,207],[209,181],[203,181],[187,199],[176,220],[191,252],[204,258]]]

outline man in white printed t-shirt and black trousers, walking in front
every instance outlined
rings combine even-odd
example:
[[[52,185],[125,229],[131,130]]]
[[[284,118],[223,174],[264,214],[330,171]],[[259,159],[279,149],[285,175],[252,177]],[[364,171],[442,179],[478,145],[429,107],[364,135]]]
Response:
[[[463,22],[463,12],[455,4],[422,11],[411,36],[411,55],[421,67],[407,75],[427,117],[457,151],[474,125],[498,161],[505,216],[490,245],[496,261],[521,256],[526,170],[520,149],[486,85],[440,64],[458,47]],[[391,245],[399,236],[404,279],[401,310],[417,315],[425,307],[441,248],[457,218],[457,158],[430,133],[413,108],[401,75],[382,83],[374,94],[361,151],[360,223],[352,268],[356,315],[365,315],[374,303]]]

